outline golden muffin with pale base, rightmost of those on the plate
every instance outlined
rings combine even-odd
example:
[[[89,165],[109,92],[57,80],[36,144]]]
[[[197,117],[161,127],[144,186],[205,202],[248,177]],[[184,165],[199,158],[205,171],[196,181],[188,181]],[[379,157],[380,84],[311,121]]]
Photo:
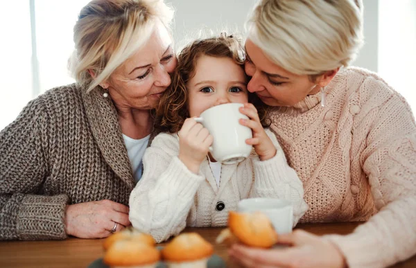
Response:
[[[205,268],[212,253],[214,247],[198,233],[182,233],[162,249],[162,258],[169,268]]]

